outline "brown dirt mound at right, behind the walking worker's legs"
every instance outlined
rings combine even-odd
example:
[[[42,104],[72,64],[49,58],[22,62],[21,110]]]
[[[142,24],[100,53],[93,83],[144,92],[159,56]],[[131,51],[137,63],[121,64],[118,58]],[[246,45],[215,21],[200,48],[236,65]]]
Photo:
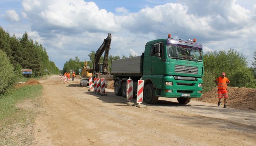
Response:
[[[203,94],[201,98],[195,99],[207,103],[214,103],[217,105],[218,88],[215,87],[206,94]],[[234,107],[236,109],[252,109],[256,110],[256,89],[251,88],[238,88],[238,87],[228,87],[229,98],[227,100],[227,106]],[[224,100],[222,99],[222,105]]]

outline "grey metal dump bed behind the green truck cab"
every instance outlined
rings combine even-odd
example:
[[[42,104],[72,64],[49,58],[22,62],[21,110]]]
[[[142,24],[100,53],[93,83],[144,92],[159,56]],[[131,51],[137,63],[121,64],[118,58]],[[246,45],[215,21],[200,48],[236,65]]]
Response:
[[[142,75],[142,56],[112,60],[111,75]]]

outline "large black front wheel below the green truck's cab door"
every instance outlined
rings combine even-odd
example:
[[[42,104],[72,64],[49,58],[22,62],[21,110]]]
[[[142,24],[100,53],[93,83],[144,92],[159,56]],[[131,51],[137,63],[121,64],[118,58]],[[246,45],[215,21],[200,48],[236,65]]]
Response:
[[[148,104],[156,104],[158,101],[158,97],[155,96],[155,90],[152,84],[147,84],[145,90],[143,92],[143,97],[146,103]]]

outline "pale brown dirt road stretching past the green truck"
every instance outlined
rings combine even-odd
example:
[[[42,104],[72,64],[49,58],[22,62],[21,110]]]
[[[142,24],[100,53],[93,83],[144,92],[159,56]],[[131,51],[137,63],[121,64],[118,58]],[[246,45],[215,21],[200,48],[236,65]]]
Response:
[[[255,146],[256,111],[159,98],[138,108],[126,98],[88,92],[79,81],[59,76],[41,81],[43,109],[36,118],[34,145]],[[135,103],[135,99],[133,100]],[[216,99],[217,101],[217,99]],[[144,103],[143,103],[144,104]]]

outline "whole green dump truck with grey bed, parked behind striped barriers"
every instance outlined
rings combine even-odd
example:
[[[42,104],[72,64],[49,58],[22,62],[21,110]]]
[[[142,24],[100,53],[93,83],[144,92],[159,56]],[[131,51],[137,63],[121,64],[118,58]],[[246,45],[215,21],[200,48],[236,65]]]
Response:
[[[202,95],[203,77],[202,45],[192,40],[167,39],[149,41],[141,56],[112,60],[114,93],[126,97],[126,82],[133,80],[133,95],[137,81],[144,80],[143,98],[156,104],[158,97],[177,98],[187,104],[191,98]]]

